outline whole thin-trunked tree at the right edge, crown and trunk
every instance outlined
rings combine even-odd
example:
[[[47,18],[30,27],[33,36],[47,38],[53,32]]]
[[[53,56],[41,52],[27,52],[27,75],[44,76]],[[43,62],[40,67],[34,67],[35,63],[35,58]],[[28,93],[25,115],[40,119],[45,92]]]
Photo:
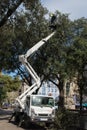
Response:
[[[87,63],[87,20],[81,18],[74,22],[73,44],[67,48],[68,74],[77,77],[80,93],[80,110],[82,110],[82,96],[84,92],[84,66]]]

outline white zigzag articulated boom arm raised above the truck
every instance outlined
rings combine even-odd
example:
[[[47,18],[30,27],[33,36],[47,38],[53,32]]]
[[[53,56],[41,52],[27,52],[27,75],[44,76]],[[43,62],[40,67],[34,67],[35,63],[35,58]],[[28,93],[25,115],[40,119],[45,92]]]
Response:
[[[39,87],[40,87],[40,78],[38,77],[38,75],[36,74],[36,72],[34,71],[34,69],[31,67],[31,65],[29,64],[29,62],[27,61],[27,58],[34,53],[35,51],[37,51],[43,44],[45,44],[53,35],[55,34],[55,32],[51,33],[50,35],[48,35],[46,38],[42,39],[41,41],[39,41],[36,45],[34,45],[31,49],[29,49],[25,55],[20,55],[19,56],[19,61],[22,62],[22,64],[26,67],[26,69],[28,70],[29,74],[32,76],[33,80],[34,80],[34,84],[31,85],[24,93],[22,93],[18,98],[16,98],[16,100],[18,101],[20,107],[22,109],[24,109],[24,101],[26,99],[26,96],[31,95],[33,92],[35,92]]]

